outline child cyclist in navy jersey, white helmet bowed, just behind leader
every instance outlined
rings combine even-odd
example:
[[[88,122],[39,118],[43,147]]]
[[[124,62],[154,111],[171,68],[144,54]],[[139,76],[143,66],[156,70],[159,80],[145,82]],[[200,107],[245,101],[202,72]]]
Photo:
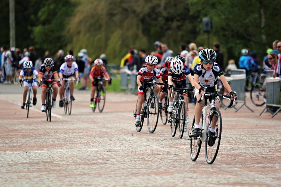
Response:
[[[181,58],[182,57],[182,58]],[[193,78],[190,75],[190,72],[187,67],[184,67],[184,63],[182,60],[185,61],[183,56],[176,56],[174,60],[171,62],[171,69],[168,72],[168,84],[169,84],[169,107],[168,112],[173,112],[173,96],[170,97],[171,91],[173,87],[177,88],[186,88],[186,79],[189,79],[189,82],[192,86],[193,85]],[[184,123],[184,132],[187,130],[187,123],[189,123],[189,116],[188,116],[188,97],[187,93],[184,90],[184,102],[185,102],[185,116],[186,120]]]

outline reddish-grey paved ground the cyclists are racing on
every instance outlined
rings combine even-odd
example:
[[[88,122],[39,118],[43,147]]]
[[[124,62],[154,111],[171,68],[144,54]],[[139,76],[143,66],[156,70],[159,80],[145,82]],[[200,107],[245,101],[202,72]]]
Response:
[[[38,104],[20,109],[22,89],[0,85],[1,186],[280,186],[280,113],[258,116],[249,106],[222,111],[222,141],[213,165],[201,150],[189,155],[187,134],[136,132],[136,96],[109,93],[104,112],[89,108],[89,91],[76,90],[72,114],[59,107],[52,122]],[[38,94],[37,98],[40,98]],[[194,105],[189,105],[194,115]]]

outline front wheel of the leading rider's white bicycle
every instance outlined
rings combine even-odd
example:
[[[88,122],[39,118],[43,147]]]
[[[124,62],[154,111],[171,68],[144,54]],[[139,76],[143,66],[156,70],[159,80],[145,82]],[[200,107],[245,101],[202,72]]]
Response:
[[[222,116],[219,110],[215,110],[210,116],[210,124],[212,123],[213,119],[216,123],[215,135],[210,134],[209,129],[211,126],[208,125],[208,134],[206,134],[205,138],[205,157],[208,164],[213,164],[220,148],[220,139],[222,135]]]

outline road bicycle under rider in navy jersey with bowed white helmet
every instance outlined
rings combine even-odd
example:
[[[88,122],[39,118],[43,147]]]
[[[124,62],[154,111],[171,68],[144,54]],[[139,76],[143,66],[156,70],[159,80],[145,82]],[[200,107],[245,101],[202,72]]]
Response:
[[[174,137],[179,127],[179,138],[184,135],[184,124],[186,120],[185,102],[184,102],[184,91],[193,91],[192,88],[172,88],[170,97],[175,93],[175,101],[173,105],[173,112],[170,113],[168,123],[170,123],[171,135]],[[194,95],[194,92],[193,92]]]

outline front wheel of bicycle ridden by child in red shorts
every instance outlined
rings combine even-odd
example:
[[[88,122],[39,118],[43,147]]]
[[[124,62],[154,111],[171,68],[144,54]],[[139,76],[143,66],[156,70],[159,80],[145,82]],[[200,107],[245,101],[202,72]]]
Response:
[[[158,117],[158,97],[153,94],[153,96],[148,99],[147,105],[147,127],[150,133],[153,133],[155,131],[157,127]]]

